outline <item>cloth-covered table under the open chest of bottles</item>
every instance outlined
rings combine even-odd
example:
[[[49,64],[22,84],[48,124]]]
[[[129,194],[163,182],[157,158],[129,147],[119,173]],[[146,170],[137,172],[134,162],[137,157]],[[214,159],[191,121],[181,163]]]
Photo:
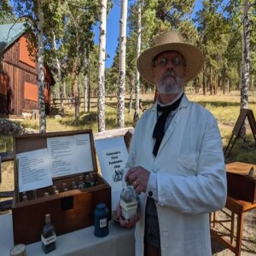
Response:
[[[109,222],[108,236],[102,238],[94,236],[94,226],[76,230],[62,236],[57,236],[55,251],[47,253],[47,255],[134,256],[134,243],[134,229],[122,228],[111,220]],[[12,215],[11,213],[0,215],[0,255],[9,256],[9,251],[13,246]],[[41,242],[38,241],[26,245],[26,254],[27,256],[45,256],[41,249]]]

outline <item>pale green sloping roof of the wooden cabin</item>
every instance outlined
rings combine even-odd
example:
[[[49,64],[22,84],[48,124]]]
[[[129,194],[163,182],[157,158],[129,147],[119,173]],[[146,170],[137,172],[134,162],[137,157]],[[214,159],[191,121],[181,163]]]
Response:
[[[24,23],[0,25],[0,54],[13,44],[17,38],[26,32]]]

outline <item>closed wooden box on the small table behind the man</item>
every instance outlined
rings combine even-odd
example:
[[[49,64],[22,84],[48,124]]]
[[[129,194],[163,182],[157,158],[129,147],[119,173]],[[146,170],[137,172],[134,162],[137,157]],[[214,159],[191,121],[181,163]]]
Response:
[[[248,172],[254,168],[254,176]],[[227,165],[228,195],[236,200],[256,202],[256,165],[234,162]]]

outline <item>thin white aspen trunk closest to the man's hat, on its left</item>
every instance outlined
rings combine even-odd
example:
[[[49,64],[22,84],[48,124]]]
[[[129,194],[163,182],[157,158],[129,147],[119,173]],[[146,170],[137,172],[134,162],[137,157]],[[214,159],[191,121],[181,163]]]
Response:
[[[142,37],[142,4],[138,3],[137,8],[137,58],[141,53],[141,39]],[[140,103],[140,73],[136,73],[136,90],[135,90],[135,112],[134,121],[139,119],[139,103]]]

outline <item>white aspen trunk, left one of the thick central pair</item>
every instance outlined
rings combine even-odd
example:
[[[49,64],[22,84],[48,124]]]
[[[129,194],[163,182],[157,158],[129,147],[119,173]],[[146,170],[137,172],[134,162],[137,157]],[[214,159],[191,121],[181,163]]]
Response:
[[[98,74],[98,131],[105,131],[105,59],[107,33],[107,0],[101,1],[101,25]]]

